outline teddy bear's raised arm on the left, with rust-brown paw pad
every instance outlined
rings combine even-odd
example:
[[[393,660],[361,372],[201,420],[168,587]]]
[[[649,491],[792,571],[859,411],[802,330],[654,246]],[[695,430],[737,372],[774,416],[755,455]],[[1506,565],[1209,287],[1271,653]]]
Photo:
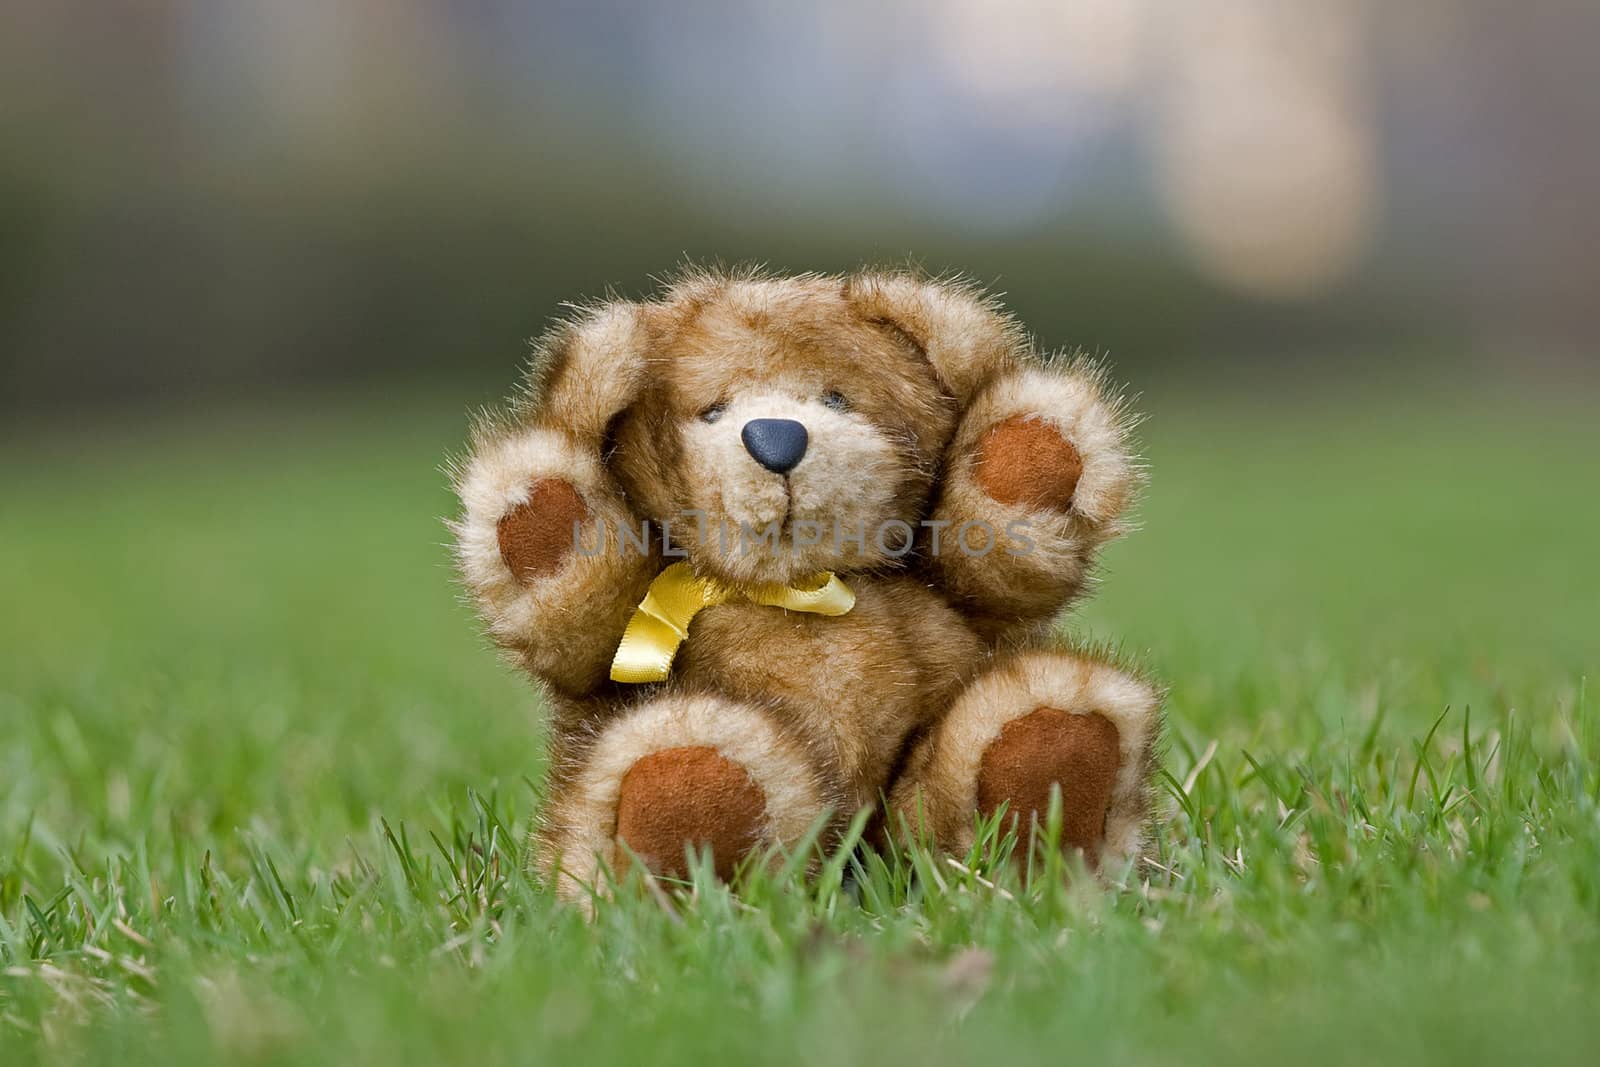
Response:
[[[570,696],[606,683],[661,569],[598,453],[557,427],[480,438],[458,477],[456,555],[494,641]]]

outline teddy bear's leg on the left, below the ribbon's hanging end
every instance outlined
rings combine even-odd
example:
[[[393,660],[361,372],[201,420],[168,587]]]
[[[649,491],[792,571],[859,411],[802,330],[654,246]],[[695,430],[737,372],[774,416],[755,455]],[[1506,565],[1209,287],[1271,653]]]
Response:
[[[605,891],[634,857],[688,875],[690,849],[730,878],[752,851],[795,846],[838,811],[835,776],[776,715],[706,694],[667,694],[624,712],[552,776],[539,848],[562,896]]]

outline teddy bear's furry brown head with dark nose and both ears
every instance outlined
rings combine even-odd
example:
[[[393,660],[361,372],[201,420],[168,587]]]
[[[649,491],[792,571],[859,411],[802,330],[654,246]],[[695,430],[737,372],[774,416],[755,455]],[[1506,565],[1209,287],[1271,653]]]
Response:
[[[789,582],[902,557],[965,402],[1026,347],[963,286],[691,272],[557,330],[526,403],[698,573]]]

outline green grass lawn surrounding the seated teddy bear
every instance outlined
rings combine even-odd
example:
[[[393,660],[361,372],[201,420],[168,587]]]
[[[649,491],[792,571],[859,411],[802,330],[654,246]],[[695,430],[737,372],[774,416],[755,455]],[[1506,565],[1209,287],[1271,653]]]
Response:
[[[1152,864],[898,856],[592,925],[523,872],[539,709],[440,547],[462,402],[35,429],[0,1062],[1590,1062],[1600,430],[1358,400],[1155,405],[1146,528],[1070,622],[1173,686]]]

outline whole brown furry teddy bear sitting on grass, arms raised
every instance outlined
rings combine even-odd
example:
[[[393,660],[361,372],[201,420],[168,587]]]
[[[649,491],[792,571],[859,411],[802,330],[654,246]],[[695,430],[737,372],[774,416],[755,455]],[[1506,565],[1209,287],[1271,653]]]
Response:
[[[1053,625],[1138,482],[1098,368],[974,288],[691,270],[538,346],[456,472],[461,573],[552,710],[539,854],[730,877],[826,813],[962,851],[1147,822],[1160,694]]]

